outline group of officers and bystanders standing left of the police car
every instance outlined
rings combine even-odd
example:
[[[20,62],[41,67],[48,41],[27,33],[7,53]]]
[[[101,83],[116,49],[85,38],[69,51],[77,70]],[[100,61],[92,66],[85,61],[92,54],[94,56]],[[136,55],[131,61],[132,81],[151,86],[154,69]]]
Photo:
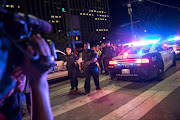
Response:
[[[94,79],[96,90],[99,90],[99,74],[109,75],[109,60],[118,55],[121,50],[122,49],[117,49],[117,47],[112,46],[110,41],[103,42],[101,45],[92,46],[92,48],[90,48],[89,43],[84,43],[83,49],[80,49],[79,51],[74,50],[74,52],[70,47],[67,47],[67,55],[63,61],[67,62],[68,76],[71,83],[70,92],[72,90],[78,91],[78,71],[82,70],[85,75],[85,94],[90,93],[91,76]],[[79,57],[82,58],[81,62],[79,61]],[[61,67],[64,62],[62,62]]]

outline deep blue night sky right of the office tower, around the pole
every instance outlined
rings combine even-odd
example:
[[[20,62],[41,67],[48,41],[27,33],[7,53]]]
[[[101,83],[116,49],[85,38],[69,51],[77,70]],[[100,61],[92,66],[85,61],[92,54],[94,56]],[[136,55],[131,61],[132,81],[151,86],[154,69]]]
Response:
[[[132,0],[131,0],[132,1]],[[180,8],[180,0],[152,0],[155,2],[175,6]],[[109,0],[112,36],[116,39],[115,32],[125,33],[127,36],[131,32],[131,26],[121,27],[130,23],[127,6],[122,6],[128,0]],[[135,34],[158,34],[164,37],[176,35],[178,33],[178,9],[164,7],[146,0],[132,3],[133,21],[140,21],[134,24]],[[146,33],[146,34],[147,34]],[[124,37],[123,36],[123,37]],[[124,38],[126,39],[126,37]]]

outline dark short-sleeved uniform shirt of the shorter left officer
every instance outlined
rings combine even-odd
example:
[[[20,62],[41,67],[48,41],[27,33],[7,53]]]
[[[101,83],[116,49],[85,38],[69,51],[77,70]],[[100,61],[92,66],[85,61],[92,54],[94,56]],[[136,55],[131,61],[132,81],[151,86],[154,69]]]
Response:
[[[67,68],[75,68],[76,64],[75,62],[78,60],[78,56],[76,54],[70,54],[70,55],[66,55],[64,58],[64,61],[67,62]]]

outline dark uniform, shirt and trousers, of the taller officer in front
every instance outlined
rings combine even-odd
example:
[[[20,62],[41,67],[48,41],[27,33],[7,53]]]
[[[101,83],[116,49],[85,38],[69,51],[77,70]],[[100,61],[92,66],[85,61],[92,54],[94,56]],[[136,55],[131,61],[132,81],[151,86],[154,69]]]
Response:
[[[91,50],[91,49],[89,49],[87,51],[84,50],[82,53],[82,60],[84,60],[85,65],[88,61],[90,61],[93,58],[97,58],[97,57],[98,57],[98,55],[97,55],[96,51]],[[96,89],[99,89],[99,70],[98,70],[98,66],[97,66],[96,62],[91,63],[89,66],[85,66],[86,80],[85,80],[84,88],[85,88],[86,93],[90,92],[91,75],[94,79]]]

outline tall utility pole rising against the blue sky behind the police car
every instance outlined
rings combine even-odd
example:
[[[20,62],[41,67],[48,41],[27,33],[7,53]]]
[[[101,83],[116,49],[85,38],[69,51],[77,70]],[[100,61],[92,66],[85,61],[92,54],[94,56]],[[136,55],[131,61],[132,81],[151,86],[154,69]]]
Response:
[[[131,0],[129,0],[129,3],[127,4],[127,7],[128,7],[128,14],[130,15],[130,20],[131,20],[132,40],[134,40],[134,26],[133,26]]]

